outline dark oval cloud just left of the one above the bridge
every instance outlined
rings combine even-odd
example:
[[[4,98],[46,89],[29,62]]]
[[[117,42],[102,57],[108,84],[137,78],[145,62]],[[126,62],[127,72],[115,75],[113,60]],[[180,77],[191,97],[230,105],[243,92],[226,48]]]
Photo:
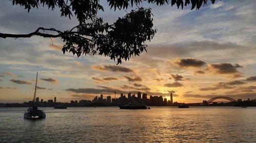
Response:
[[[181,68],[199,68],[205,65],[204,61],[197,60],[197,59],[180,59],[176,58],[172,61],[174,66],[181,67]]]

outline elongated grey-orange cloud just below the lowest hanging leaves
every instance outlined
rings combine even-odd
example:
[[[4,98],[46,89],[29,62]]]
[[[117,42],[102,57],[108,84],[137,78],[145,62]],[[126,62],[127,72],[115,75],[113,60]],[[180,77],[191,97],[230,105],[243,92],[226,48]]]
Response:
[[[98,71],[134,72],[132,69],[116,65],[92,65],[91,68]]]

